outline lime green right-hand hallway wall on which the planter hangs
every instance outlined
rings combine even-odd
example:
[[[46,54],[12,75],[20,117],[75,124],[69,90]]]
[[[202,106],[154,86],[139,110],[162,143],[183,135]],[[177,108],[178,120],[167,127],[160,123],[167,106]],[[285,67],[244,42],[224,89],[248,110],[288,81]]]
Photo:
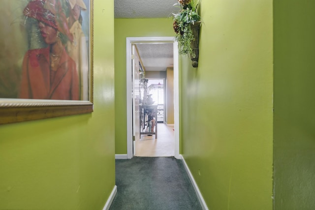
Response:
[[[272,0],[202,1],[181,59],[182,154],[212,210],[273,208]]]

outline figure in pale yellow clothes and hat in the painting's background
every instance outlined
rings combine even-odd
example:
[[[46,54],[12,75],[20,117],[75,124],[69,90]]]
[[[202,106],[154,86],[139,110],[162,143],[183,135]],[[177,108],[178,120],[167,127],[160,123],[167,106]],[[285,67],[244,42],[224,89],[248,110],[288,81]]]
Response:
[[[88,100],[88,54],[86,36],[82,30],[82,10],[87,10],[83,0],[69,0],[69,17],[67,18],[70,33],[73,40],[69,40],[66,46],[69,56],[75,61],[79,75],[80,96],[82,100]],[[81,20],[81,21],[80,21]]]

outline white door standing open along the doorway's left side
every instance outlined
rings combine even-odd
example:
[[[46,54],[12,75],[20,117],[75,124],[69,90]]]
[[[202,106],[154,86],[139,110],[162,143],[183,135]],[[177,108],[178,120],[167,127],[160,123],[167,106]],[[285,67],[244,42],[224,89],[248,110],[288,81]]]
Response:
[[[139,55],[135,45],[132,45],[132,135],[133,155],[135,155],[135,141],[140,140],[140,71]]]

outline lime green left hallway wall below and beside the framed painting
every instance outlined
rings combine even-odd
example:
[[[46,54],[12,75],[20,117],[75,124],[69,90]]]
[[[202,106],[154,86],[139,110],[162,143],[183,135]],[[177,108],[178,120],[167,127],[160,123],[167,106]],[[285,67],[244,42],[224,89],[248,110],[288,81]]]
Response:
[[[102,210],[113,190],[114,1],[94,2],[94,112],[0,126],[1,210]]]

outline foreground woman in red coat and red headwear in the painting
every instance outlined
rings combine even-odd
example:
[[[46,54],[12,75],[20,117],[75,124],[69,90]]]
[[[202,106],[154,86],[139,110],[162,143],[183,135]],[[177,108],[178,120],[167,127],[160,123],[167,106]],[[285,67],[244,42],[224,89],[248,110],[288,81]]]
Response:
[[[46,48],[29,50],[23,60],[20,98],[79,100],[76,64],[62,40],[72,40],[60,1],[33,0],[24,9],[38,21]]]

